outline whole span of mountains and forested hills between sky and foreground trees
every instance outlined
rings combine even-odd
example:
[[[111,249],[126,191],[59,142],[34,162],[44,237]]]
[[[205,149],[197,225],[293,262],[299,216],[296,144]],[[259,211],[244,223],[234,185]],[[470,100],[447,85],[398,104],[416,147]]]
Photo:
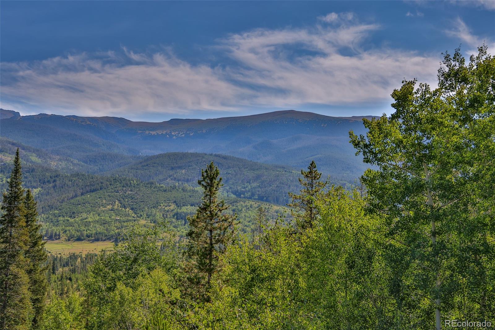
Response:
[[[184,237],[186,218],[200,201],[201,169],[211,161],[220,169],[229,212],[238,214],[239,229],[246,233],[259,206],[269,219],[290,219],[288,193],[300,189],[299,168],[313,160],[309,150],[335,184],[350,187],[362,167],[358,157],[346,153],[351,149],[347,129],[362,131],[359,118],[277,111],[146,123],[113,117],[20,116],[9,110],[1,110],[1,118],[0,189],[6,189],[19,148],[24,186],[38,202],[44,239],[57,242],[49,243],[53,248],[64,241],[113,241],[132,223],[163,220]],[[246,159],[209,153],[213,151]],[[146,155],[150,153],[159,154]],[[273,164],[275,160],[285,165]]]

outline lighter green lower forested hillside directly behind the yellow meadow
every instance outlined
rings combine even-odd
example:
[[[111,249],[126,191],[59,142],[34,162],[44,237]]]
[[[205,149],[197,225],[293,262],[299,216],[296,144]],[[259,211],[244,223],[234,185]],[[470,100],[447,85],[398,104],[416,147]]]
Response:
[[[6,190],[6,177],[12,168],[12,162],[9,163],[1,168],[2,191]],[[194,212],[200,196],[197,189],[184,184],[168,182],[164,186],[125,176],[67,174],[38,162],[34,164],[24,166],[24,187],[31,189],[36,197],[45,239],[113,240],[128,224],[165,219],[172,221],[178,234],[184,236],[186,216]],[[200,169],[191,174],[198,178],[198,173]],[[233,205],[232,212],[240,214],[242,231],[250,230],[250,218],[259,205],[266,205],[272,216],[284,212],[283,207],[248,200],[250,196],[241,200],[230,190],[222,193]],[[287,196],[273,194],[259,198],[280,200]]]

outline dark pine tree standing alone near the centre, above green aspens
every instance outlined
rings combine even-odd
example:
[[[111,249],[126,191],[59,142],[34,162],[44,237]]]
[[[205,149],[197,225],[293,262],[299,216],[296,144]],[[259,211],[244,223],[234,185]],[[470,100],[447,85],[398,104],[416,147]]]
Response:
[[[188,256],[188,279],[193,284],[199,299],[208,302],[211,277],[219,268],[219,257],[232,241],[236,216],[224,212],[229,208],[219,199],[222,178],[218,167],[211,162],[201,170],[198,184],[203,188],[203,197],[196,215],[188,217],[190,230]]]

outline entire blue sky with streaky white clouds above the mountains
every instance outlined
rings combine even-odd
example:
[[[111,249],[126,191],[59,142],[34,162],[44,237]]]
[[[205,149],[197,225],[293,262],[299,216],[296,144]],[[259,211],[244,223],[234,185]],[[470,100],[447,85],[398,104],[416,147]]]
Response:
[[[0,107],[212,118],[390,114],[442,53],[495,55],[495,0],[0,1]]]

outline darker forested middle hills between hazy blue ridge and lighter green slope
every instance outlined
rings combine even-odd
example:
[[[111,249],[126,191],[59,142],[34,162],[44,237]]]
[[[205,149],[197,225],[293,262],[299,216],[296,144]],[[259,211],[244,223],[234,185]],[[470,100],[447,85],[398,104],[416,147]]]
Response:
[[[200,169],[214,161],[225,173],[222,193],[285,205],[289,202],[288,192],[297,191],[299,175],[298,170],[289,166],[260,164],[232,156],[199,153],[167,153],[148,157],[95,153],[77,161],[1,138],[0,161],[3,166],[0,169],[0,182],[3,182],[3,185],[0,184],[0,189],[5,188],[5,177],[9,173],[9,165],[12,165],[16,148],[19,148],[21,156],[26,160],[26,186],[38,189],[44,185],[44,190],[39,196],[43,201],[47,198],[45,195],[51,196],[50,198],[78,196],[79,191],[94,191],[100,189],[103,181],[115,180],[100,176],[128,177],[140,181],[154,181],[166,186],[187,184],[194,187]],[[81,172],[100,175],[83,175]],[[77,177],[81,178],[76,179]],[[58,191],[51,191],[53,182],[57,182]],[[337,183],[347,185],[347,182]],[[81,187],[81,184],[85,187]],[[64,186],[72,190],[63,191]]]

